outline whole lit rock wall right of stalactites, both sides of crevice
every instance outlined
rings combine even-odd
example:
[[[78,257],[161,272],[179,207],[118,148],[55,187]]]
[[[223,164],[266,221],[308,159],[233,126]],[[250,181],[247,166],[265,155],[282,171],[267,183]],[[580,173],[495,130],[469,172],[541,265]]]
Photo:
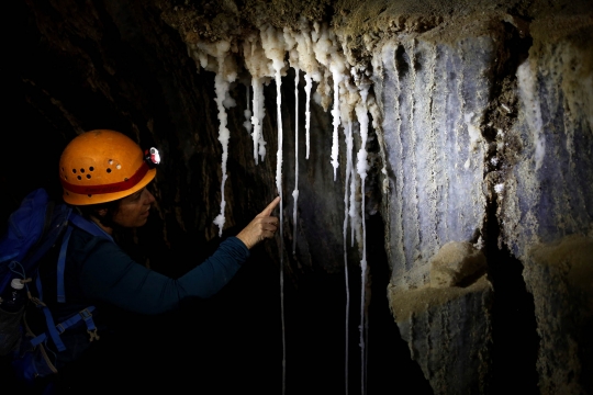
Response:
[[[591,388],[583,330],[591,327],[593,284],[585,258],[592,248],[592,30],[586,20],[557,12],[539,9],[530,23],[507,15],[488,32],[462,34],[454,43],[438,30],[399,37],[377,61],[393,169],[385,207],[394,263],[390,300],[435,393],[500,390],[497,366],[504,362],[495,356],[503,337],[492,328],[492,296],[503,297],[500,278],[507,264],[524,268],[533,295],[538,391]],[[447,241],[471,241],[486,253],[493,244],[518,261],[488,256],[494,286],[468,287],[472,298],[452,295],[433,278],[436,253]],[[466,259],[449,262],[457,278],[473,273],[463,272]],[[412,297],[425,303],[416,301],[410,312]],[[494,323],[505,319],[500,309],[496,315]],[[475,316],[482,319],[469,326],[480,329],[460,335]],[[466,343],[456,345],[459,338]],[[471,356],[465,353],[468,342]],[[533,352],[530,342],[517,342],[517,350]],[[456,369],[460,356],[477,364]],[[462,373],[469,376],[460,379]]]

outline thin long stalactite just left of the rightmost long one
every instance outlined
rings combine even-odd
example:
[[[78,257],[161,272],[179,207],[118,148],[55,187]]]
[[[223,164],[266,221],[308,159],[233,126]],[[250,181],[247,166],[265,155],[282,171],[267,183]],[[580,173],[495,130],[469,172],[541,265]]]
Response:
[[[345,361],[345,381],[346,381],[346,395],[348,394],[348,342],[349,342],[349,321],[350,321],[350,285],[349,285],[349,279],[348,279],[348,245],[347,245],[347,235],[348,235],[348,216],[349,216],[349,210],[348,210],[348,187],[350,185],[349,179],[353,169],[353,127],[351,122],[348,123],[348,129],[344,129],[344,134],[346,135],[346,181],[344,182],[344,226],[343,226],[343,235],[344,235],[344,278],[346,282],[346,361]],[[351,229],[354,232],[354,229]]]

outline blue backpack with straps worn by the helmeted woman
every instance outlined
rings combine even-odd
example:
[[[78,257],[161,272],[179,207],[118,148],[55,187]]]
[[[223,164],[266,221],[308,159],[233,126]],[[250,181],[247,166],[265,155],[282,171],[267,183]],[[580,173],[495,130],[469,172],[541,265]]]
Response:
[[[48,352],[47,342],[52,341],[52,348],[58,352],[65,351],[66,346],[60,339],[65,330],[86,326],[89,341],[99,339],[92,319],[94,306],[88,306],[56,325],[53,313],[43,303],[38,264],[44,255],[59,241],[57,301],[66,302],[64,271],[68,241],[75,227],[113,241],[94,223],[72,212],[67,204],[56,204],[49,200],[45,190],[37,189],[25,196],[20,207],[11,214],[7,233],[0,238],[0,294],[10,286],[12,279],[23,280],[29,305],[43,312],[45,317],[46,330],[33,334],[26,324],[24,306],[18,313],[8,313],[0,307],[0,356],[12,353],[16,376],[29,383],[57,373],[57,357]],[[32,296],[30,287],[36,289],[34,294],[37,296]]]

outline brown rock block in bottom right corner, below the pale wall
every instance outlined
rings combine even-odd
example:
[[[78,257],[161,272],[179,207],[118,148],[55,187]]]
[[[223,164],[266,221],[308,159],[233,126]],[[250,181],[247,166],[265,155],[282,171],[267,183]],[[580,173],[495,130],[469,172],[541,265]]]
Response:
[[[541,394],[593,388],[593,237],[534,246],[523,272],[534,295]]]

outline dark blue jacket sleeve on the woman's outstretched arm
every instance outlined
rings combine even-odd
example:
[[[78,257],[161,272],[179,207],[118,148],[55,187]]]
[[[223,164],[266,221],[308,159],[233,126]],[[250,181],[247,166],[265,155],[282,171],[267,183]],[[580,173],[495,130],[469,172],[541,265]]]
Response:
[[[141,314],[174,309],[189,296],[212,296],[249,256],[243,241],[230,237],[202,264],[174,280],[136,263],[115,244],[98,237],[72,252],[78,256],[86,296]]]

